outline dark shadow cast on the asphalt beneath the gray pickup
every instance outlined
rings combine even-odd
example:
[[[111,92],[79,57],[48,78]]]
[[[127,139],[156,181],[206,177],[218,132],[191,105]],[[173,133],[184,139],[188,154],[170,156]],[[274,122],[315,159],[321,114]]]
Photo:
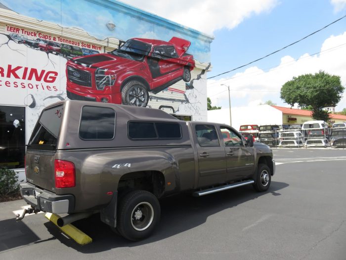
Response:
[[[272,181],[269,191],[264,193],[255,192],[252,186],[249,185],[199,198],[191,197],[188,194],[180,194],[162,199],[160,201],[161,220],[158,228],[151,237],[139,242],[130,242],[114,233],[108,225],[100,221],[97,214],[73,223],[93,240],[92,244],[83,247],[63,235],[53,223],[46,222],[44,225],[51,235],[61,243],[84,254],[108,251],[113,248],[135,247],[192,229],[205,223],[209,216],[219,211],[237,207],[250,200],[256,200],[265,194],[280,196],[281,194],[278,191],[288,186],[287,183]]]

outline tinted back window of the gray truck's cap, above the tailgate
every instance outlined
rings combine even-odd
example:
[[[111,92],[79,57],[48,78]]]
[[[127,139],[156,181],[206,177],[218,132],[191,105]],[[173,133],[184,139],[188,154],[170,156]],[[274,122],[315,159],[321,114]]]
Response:
[[[63,106],[43,110],[29,141],[28,149],[56,150]]]

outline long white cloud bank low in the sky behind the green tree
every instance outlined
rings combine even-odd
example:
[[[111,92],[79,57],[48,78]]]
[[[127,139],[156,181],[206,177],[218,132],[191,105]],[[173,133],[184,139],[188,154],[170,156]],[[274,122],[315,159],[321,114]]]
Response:
[[[280,99],[282,85],[294,76],[307,73],[316,73],[319,70],[338,75],[346,87],[346,32],[338,36],[331,36],[321,46],[321,53],[310,56],[304,53],[299,60],[291,56],[281,58],[281,63],[265,72],[258,67],[247,68],[235,74],[232,79],[219,79],[208,81],[208,97],[212,104],[228,107],[228,91],[225,84],[230,86],[231,105],[246,106],[264,103],[267,100],[288,106]],[[221,93],[220,93],[221,92]],[[346,107],[346,95],[338,104],[336,110]]]

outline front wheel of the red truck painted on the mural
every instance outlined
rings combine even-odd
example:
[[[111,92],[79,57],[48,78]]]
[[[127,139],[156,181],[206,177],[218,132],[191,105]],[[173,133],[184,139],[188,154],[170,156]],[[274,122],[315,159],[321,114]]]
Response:
[[[131,80],[125,84],[122,93],[122,102],[127,105],[147,106],[149,101],[148,90],[138,80]]]

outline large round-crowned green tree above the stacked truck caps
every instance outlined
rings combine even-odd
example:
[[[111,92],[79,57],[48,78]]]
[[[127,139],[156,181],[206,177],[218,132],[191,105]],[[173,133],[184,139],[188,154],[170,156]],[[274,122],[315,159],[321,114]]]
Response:
[[[336,106],[342,98],[344,87],[340,76],[330,75],[324,71],[293,77],[281,88],[280,98],[287,104],[298,103],[300,107],[311,106],[312,117],[328,121],[326,106]]]

